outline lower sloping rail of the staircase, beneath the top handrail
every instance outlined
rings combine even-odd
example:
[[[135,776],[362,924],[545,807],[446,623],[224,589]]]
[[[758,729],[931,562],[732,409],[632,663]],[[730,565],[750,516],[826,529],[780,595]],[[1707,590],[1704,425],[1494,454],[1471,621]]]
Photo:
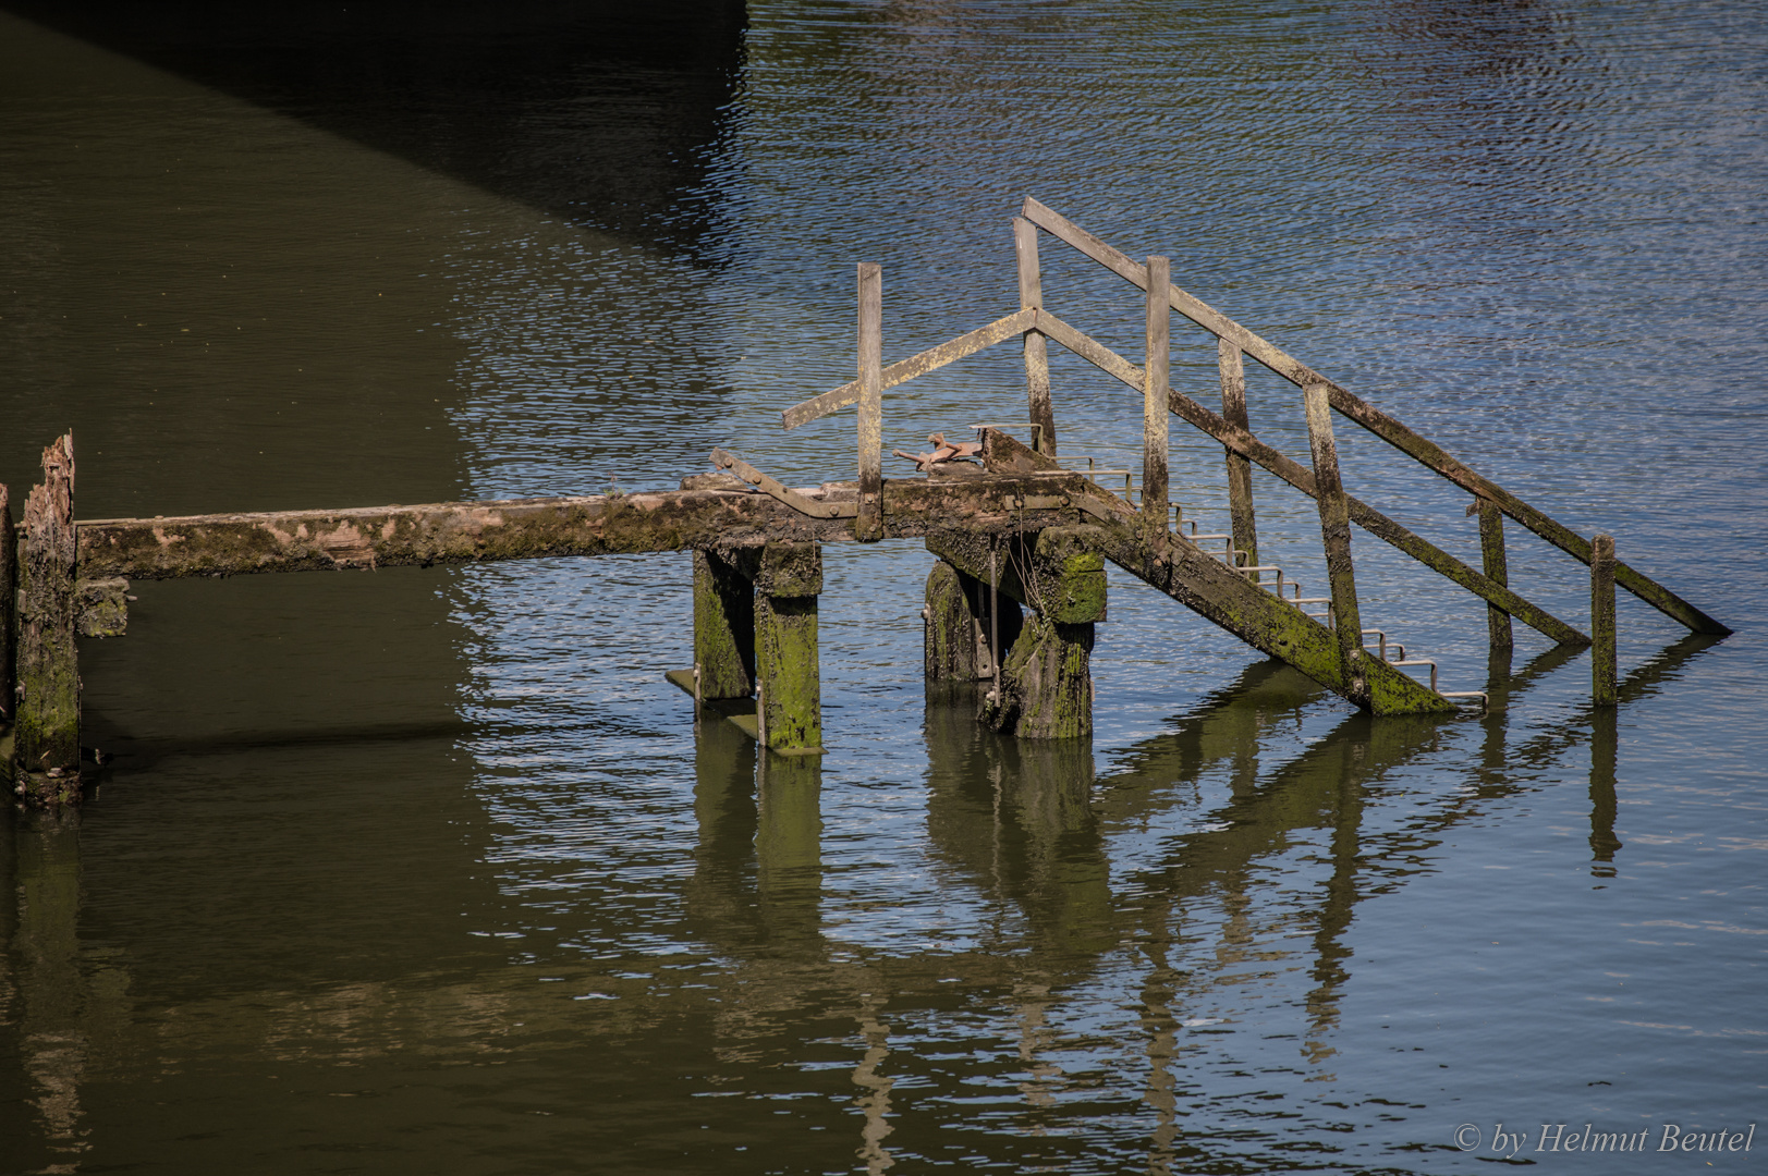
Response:
[[[1142,370],[1132,364],[1123,355],[1117,355],[1110,348],[1103,347],[1096,340],[1082,334],[1075,327],[1068,325],[1061,318],[1055,318],[1048,311],[1038,315],[1038,329],[1048,334],[1052,340],[1071,350],[1073,354],[1087,359],[1101,371],[1116,377],[1128,387],[1142,387]],[[1197,426],[1204,433],[1209,433],[1223,446],[1234,453],[1245,454],[1252,462],[1257,462],[1266,470],[1276,474],[1291,486],[1301,493],[1317,497],[1314,492],[1314,474],[1305,465],[1284,456],[1271,446],[1264,444],[1254,437],[1245,428],[1238,428],[1223,421],[1220,416],[1200,405],[1199,401],[1185,396],[1183,393],[1169,389],[1169,405],[1172,412],[1183,417],[1186,423]],[[1517,621],[1522,621],[1529,628],[1551,637],[1552,640],[1565,645],[1588,645],[1589,638],[1584,637],[1577,628],[1559,621],[1545,608],[1540,608],[1522,596],[1512,592],[1506,585],[1480,575],[1462,561],[1455,559],[1443,548],[1436,546],[1423,536],[1413,534],[1409,529],[1402,527],[1395,520],[1388,518],[1367,502],[1345,495],[1345,508],[1351,513],[1351,522],[1354,522],[1363,531],[1370,532],[1384,543],[1391,543],[1400,548],[1418,562],[1425,564],[1432,571],[1443,575],[1448,580],[1462,585],[1475,596],[1480,596],[1489,605],[1503,608]]]

